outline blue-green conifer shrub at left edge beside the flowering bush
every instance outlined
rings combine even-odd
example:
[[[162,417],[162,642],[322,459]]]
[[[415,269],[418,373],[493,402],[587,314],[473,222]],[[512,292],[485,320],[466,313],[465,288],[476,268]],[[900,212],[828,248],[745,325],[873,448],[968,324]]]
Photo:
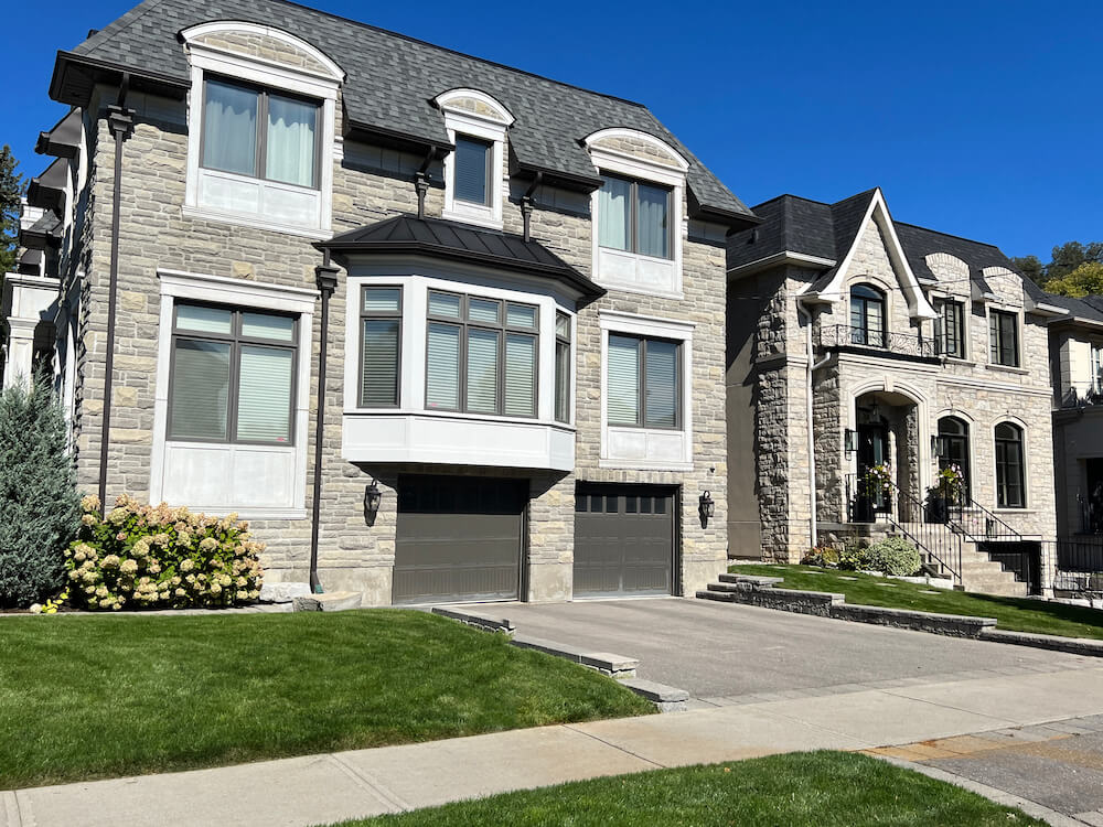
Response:
[[[65,583],[81,506],[66,427],[47,377],[0,393],[0,606],[26,606]]]

